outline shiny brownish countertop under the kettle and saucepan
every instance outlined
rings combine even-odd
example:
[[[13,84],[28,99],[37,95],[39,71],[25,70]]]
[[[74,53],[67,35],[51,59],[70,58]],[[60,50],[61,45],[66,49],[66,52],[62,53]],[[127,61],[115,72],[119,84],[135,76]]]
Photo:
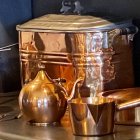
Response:
[[[140,126],[115,125],[114,134],[101,137],[74,136],[68,112],[57,126],[32,126],[19,113],[18,97],[0,96],[0,140],[140,140]]]

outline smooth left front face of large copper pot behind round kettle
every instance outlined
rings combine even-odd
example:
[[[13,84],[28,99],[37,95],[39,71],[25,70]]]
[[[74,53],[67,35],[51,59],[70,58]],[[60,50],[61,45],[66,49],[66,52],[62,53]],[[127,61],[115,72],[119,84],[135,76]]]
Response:
[[[45,70],[52,79],[66,79],[63,86],[70,94],[75,81],[75,70],[69,59],[69,53],[66,52],[65,34],[20,32],[19,37],[22,85],[35,78],[39,71],[37,66],[39,60],[45,65]],[[55,42],[59,43],[54,48]]]

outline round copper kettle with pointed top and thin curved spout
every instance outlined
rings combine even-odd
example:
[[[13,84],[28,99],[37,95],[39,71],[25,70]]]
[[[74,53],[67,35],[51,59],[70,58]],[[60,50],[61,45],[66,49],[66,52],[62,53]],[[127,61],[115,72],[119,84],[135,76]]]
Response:
[[[19,106],[23,116],[35,125],[46,125],[60,122],[63,117],[67,100],[75,94],[75,87],[81,80],[76,80],[70,97],[62,86],[65,79],[51,79],[41,69],[35,79],[25,84],[19,95]]]

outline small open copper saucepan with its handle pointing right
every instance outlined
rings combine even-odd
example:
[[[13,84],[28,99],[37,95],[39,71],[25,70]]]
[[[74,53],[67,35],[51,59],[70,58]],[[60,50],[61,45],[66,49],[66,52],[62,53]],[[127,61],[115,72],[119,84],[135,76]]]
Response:
[[[116,111],[139,106],[140,100],[117,105],[113,98],[87,97],[72,99],[68,105],[74,135],[102,136],[114,132]]]

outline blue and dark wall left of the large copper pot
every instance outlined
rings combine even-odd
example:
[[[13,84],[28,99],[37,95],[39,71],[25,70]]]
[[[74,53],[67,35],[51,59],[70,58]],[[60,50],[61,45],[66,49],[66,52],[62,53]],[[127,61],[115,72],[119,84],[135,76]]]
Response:
[[[0,51],[0,94],[17,91],[20,85],[18,33],[16,25],[32,18],[31,0],[0,1],[0,49],[11,45],[11,50]]]

